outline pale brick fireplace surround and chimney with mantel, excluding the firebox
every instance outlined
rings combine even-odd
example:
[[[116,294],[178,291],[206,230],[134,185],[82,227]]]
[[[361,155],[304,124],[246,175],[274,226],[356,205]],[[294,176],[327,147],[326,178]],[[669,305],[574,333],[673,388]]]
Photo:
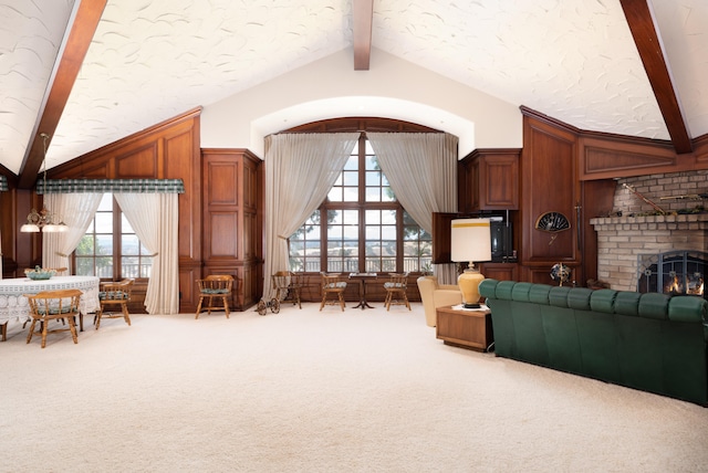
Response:
[[[624,183],[667,212],[680,213],[650,214],[655,209],[626,189]],[[688,254],[691,259],[704,256],[708,252],[708,213],[683,212],[706,204],[700,199],[685,196],[707,191],[708,171],[618,180],[613,216],[590,220],[597,233],[597,277],[610,283],[613,290],[645,292],[641,285],[647,282],[647,277],[652,278],[653,271],[660,270],[652,266],[653,261],[663,261],[665,254],[674,259],[680,254]],[[667,274],[662,277],[674,276],[676,267],[666,270]],[[696,267],[690,266],[686,277],[697,278]],[[699,267],[702,271],[702,265]]]

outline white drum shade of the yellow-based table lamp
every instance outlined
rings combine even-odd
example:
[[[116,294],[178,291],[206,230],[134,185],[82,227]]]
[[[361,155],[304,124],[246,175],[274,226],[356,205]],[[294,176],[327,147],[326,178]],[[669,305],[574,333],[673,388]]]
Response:
[[[451,223],[452,261],[480,262],[491,260],[489,219],[457,219]]]

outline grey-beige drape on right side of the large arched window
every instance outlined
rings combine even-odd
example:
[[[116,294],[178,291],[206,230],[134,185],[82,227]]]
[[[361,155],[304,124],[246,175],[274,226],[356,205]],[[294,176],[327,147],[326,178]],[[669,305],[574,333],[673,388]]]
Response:
[[[447,133],[367,133],[396,199],[428,233],[433,212],[457,211],[458,138]],[[436,264],[444,284],[455,284],[455,264]]]

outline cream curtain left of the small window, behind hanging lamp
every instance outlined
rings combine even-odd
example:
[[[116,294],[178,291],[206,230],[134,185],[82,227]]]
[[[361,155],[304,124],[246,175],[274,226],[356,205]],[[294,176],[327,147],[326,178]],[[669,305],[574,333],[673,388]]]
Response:
[[[45,193],[44,206],[61,217],[65,232],[42,234],[42,266],[70,267],[69,255],[86,233],[103,192]]]

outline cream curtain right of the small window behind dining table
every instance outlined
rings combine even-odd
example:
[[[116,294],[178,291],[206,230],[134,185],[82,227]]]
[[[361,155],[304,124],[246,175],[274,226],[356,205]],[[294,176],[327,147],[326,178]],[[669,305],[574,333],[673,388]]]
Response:
[[[145,294],[147,313],[179,313],[178,196],[123,192],[113,196],[140,243],[154,254]]]

